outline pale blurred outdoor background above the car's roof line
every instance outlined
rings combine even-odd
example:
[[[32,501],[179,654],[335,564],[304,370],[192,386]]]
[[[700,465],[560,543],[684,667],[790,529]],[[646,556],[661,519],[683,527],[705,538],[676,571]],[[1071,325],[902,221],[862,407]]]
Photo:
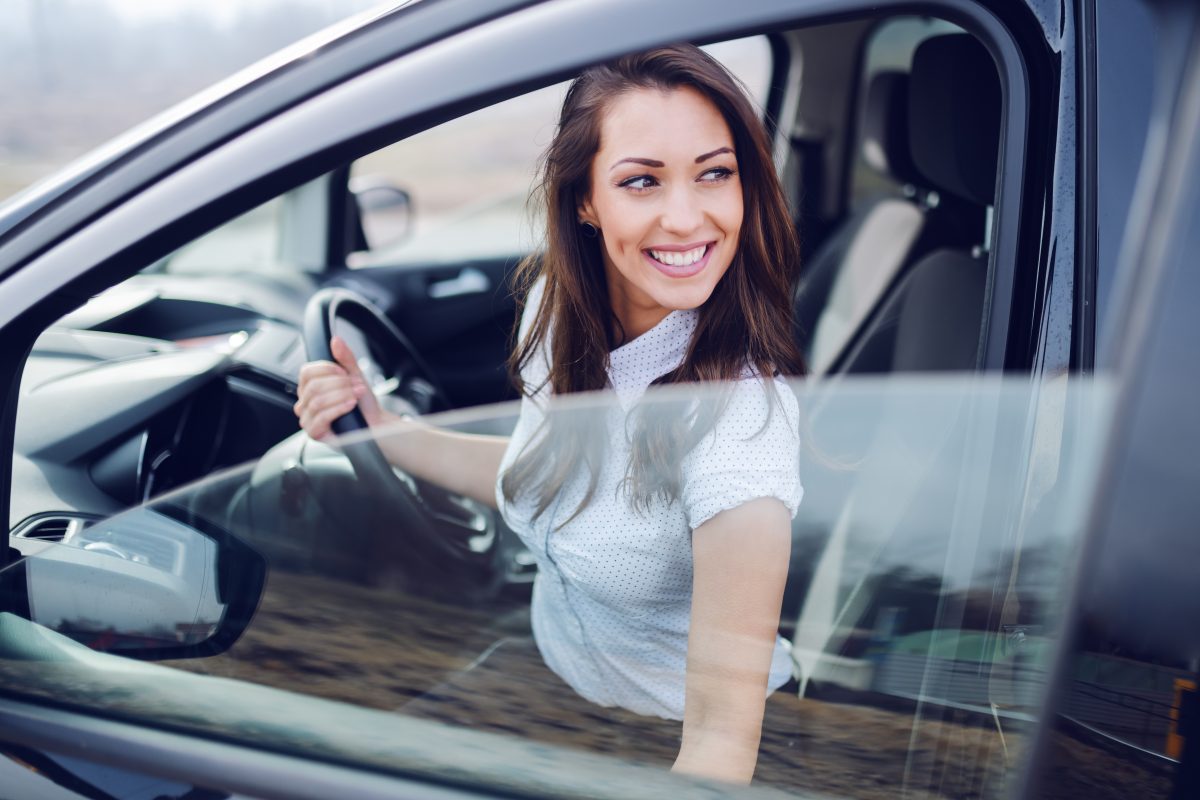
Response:
[[[379,6],[0,1],[0,200],[281,47]]]

